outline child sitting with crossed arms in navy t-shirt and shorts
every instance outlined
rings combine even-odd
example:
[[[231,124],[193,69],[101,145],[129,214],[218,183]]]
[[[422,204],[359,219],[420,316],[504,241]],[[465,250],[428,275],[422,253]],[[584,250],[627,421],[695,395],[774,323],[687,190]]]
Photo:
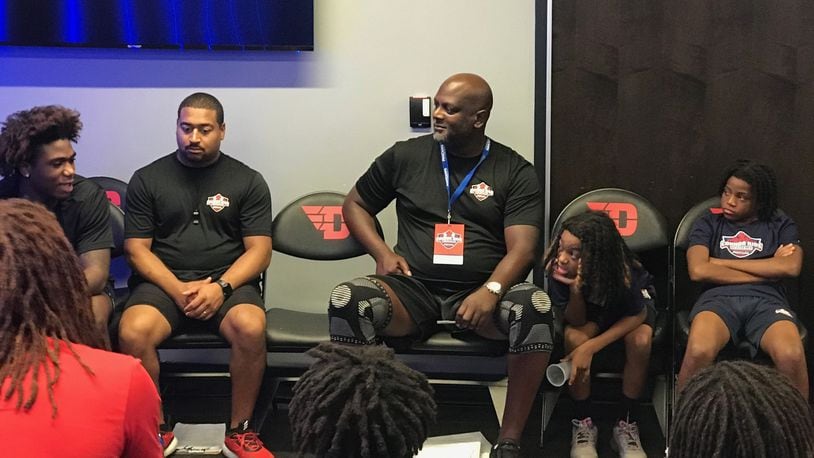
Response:
[[[805,350],[782,278],[800,275],[803,249],[794,220],[777,209],[777,179],[766,165],[740,160],[721,180],[721,212],[693,225],[690,279],[704,292],[690,312],[678,390],[730,340],[762,349],[808,399]]]

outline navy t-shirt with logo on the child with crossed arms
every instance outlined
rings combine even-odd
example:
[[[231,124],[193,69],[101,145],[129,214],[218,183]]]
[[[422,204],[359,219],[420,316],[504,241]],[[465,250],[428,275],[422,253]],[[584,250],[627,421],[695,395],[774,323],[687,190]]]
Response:
[[[780,245],[788,243],[800,244],[797,223],[781,213],[769,221],[756,220],[739,225],[722,214],[710,212],[695,222],[690,233],[690,246],[705,246],[709,249],[709,257],[718,259],[771,258]],[[705,284],[701,298],[715,296],[757,296],[786,300],[785,290],[779,281]]]

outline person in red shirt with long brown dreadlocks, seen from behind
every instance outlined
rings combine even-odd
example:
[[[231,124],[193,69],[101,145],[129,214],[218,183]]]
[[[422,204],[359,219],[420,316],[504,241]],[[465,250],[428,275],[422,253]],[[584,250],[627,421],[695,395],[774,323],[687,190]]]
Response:
[[[53,214],[0,200],[3,456],[160,457],[158,392],[104,351],[79,259]]]

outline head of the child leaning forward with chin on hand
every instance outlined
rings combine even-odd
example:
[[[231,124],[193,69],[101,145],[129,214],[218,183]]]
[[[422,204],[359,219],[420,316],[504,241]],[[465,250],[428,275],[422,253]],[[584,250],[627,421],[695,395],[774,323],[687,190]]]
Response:
[[[638,261],[613,220],[604,212],[588,211],[562,223],[543,265],[553,280],[576,284],[586,300],[606,305],[630,285],[630,269]]]

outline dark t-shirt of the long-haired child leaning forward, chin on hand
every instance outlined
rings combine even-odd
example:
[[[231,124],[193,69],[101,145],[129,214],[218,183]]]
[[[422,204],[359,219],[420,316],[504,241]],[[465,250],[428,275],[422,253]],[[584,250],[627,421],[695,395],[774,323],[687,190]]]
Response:
[[[634,267],[630,276],[630,286],[625,289],[623,300],[606,307],[586,303],[585,315],[588,321],[596,323],[601,331],[607,330],[622,318],[638,315],[648,303],[654,302],[656,288],[653,286],[653,276],[650,272],[643,267]],[[568,285],[549,277],[548,296],[555,307],[565,309],[571,297],[571,289]]]

